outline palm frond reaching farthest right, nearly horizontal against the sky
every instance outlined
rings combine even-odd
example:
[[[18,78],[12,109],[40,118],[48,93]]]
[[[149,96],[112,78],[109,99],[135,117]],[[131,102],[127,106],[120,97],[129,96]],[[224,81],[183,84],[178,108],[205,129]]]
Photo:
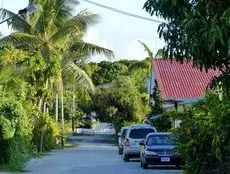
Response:
[[[85,53],[88,55],[103,54],[109,59],[114,58],[113,51],[84,41],[75,41],[70,47],[70,52],[74,51],[77,51],[80,54]]]

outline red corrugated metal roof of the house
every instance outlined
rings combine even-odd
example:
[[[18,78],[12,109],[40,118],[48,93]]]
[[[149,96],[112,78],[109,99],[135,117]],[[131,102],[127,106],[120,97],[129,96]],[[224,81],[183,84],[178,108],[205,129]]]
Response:
[[[193,62],[183,64],[175,59],[154,59],[153,71],[156,76],[161,96],[163,98],[198,98],[204,96],[204,91],[219,71],[201,72],[193,67]]]

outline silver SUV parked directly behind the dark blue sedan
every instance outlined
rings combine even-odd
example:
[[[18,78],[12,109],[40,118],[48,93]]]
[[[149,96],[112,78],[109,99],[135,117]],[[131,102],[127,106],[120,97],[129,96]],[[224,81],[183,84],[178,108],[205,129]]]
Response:
[[[157,132],[157,130],[148,124],[132,125],[125,135],[123,141],[123,160],[128,162],[130,158],[140,157],[139,143],[145,139],[149,133]]]

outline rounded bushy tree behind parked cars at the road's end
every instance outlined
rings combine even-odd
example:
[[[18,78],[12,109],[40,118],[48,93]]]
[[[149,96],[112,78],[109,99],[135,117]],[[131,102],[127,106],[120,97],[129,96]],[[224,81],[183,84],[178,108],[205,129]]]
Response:
[[[141,122],[149,112],[148,103],[135,86],[135,80],[120,76],[114,85],[101,89],[92,98],[92,110],[96,111],[100,121],[123,123]]]

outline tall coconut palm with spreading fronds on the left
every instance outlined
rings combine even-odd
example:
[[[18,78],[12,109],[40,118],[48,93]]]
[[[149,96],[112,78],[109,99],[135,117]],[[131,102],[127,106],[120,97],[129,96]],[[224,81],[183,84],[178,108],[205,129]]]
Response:
[[[109,58],[113,57],[111,50],[86,43],[82,39],[87,28],[98,22],[98,15],[82,11],[73,16],[74,7],[78,4],[77,0],[30,0],[29,3],[36,3],[38,11],[28,19],[25,15],[13,17],[8,24],[14,32],[2,38],[0,45],[40,51],[47,66],[56,68],[55,75],[52,75],[53,79],[47,77],[44,88],[49,88],[54,79],[59,79],[62,84],[61,99],[64,91],[63,77],[70,72],[75,74],[78,84],[92,86],[91,79],[75,63],[77,57],[74,55],[104,54]],[[6,9],[0,9],[2,20],[14,15]],[[41,97],[39,105],[42,106],[42,103],[44,107],[41,107],[41,110],[46,107],[46,102]],[[62,108],[62,123],[63,118]]]

